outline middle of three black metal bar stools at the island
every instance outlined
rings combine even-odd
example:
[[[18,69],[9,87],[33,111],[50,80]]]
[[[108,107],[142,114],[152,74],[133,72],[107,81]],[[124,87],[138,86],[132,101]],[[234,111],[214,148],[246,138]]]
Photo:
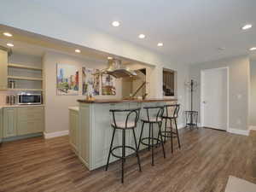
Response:
[[[166,158],[166,152],[165,152],[165,147],[164,147],[164,143],[163,143],[163,137],[160,131],[160,127],[162,125],[162,116],[164,113],[164,107],[144,107],[144,109],[147,110],[147,117],[144,119],[141,119],[143,122],[143,126],[142,126],[142,131],[140,134],[140,140],[139,140],[139,146],[138,148],[140,148],[140,144],[142,143],[145,146],[148,146],[148,150],[150,150],[151,148],[151,165],[154,166],[154,147],[157,143],[161,143],[162,145],[162,149],[163,149],[163,153],[164,153],[164,158]],[[149,112],[152,113],[152,111],[157,112],[156,115],[154,113],[153,116],[149,115]],[[149,124],[149,131],[148,131],[148,137],[143,137],[143,129],[144,129],[144,124]],[[158,125],[159,127],[159,131],[158,131],[158,137],[154,137],[154,124]],[[159,139],[160,137],[160,139]],[[148,143],[144,143],[143,141],[148,140]],[[156,143],[154,143],[154,141],[156,141]],[[151,144],[150,144],[151,142]]]

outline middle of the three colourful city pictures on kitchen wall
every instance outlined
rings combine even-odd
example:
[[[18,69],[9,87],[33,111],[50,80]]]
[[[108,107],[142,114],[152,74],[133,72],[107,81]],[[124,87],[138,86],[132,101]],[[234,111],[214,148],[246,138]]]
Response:
[[[82,67],[83,95],[100,95],[100,70]]]

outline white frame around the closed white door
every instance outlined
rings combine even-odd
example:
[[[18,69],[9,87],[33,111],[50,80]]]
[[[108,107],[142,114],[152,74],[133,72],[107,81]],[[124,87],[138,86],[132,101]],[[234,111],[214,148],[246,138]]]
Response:
[[[200,96],[200,109],[201,109],[201,113],[200,113],[200,121],[201,121],[201,126],[204,126],[204,107],[203,107],[203,86],[202,86],[202,82],[203,82],[203,73],[206,71],[213,71],[213,70],[220,70],[220,69],[225,69],[226,71],[226,77],[227,77],[227,127],[225,131],[228,131],[230,128],[230,67],[218,67],[218,68],[209,68],[209,69],[202,69],[201,70],[201,84],[200,84],[200,88],[201,88],[201,96]]]

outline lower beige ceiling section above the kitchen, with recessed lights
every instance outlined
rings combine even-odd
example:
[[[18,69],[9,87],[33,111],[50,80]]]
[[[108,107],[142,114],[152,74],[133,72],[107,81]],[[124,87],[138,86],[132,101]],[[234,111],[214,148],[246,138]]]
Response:
[[[12,38],[5,37],[3,32],[13,34]],[[6,44],[14,44],[14,47],[9,48]],[[21,55],[33,55],[42,57],[47,51],[59,52],[62,54],[73,55],[82,59],[91,61],[100,61],[108,63],[108,56],[118,58],[123,64],[130,64],[138,61],[133,61],[128,58],[118,55],[110,55],[96,49],[90,49],[77,44],[67,43],[55,38],[48,38],[32,32],[22,31],[10,26],[0,24],[0,46],[9,48],[13,53]],[[75,53],[75,49],[80,49],[81,53]]]

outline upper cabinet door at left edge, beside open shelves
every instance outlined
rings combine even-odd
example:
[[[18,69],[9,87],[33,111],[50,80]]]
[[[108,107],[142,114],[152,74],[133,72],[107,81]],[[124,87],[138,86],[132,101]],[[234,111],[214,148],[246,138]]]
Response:
[[[8,53],[0,49],[0,90],[7,90]]]

